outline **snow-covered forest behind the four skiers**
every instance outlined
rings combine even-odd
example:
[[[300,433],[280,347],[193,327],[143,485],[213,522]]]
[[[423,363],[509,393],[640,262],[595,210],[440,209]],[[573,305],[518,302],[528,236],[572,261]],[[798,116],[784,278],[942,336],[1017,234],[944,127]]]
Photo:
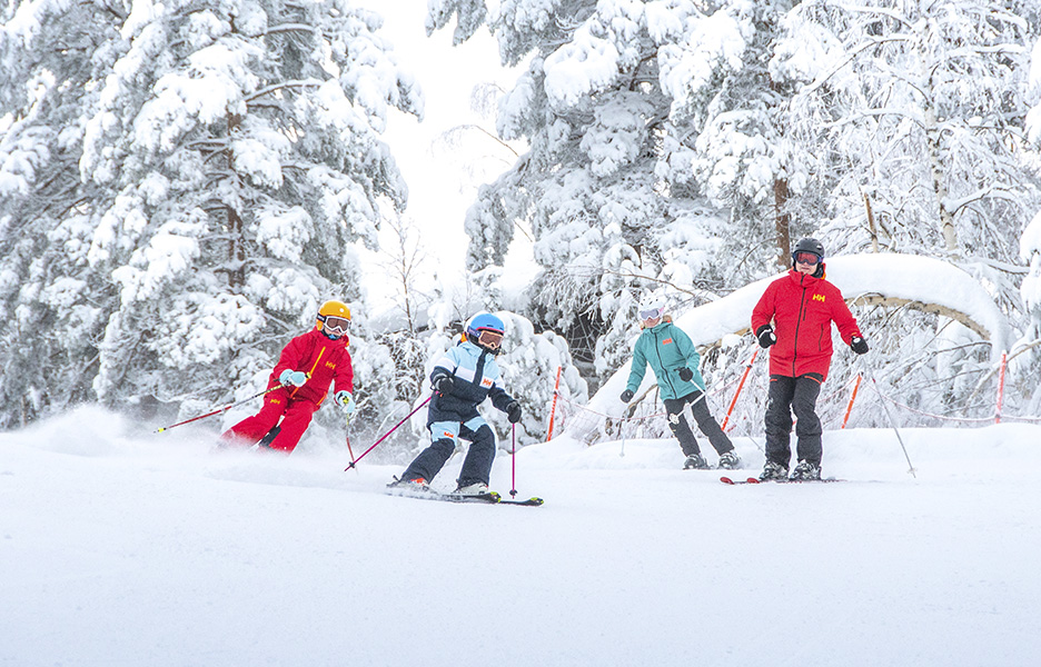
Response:
[[[513,83],[470,93],[487,125],[386,140],[458,78],[409,73],[389,11],[497,44]],[[846,295],[872,378],[918,424],[992,416],[1000,381],[1005,415],[1041,411],[1033,0],[37,0],[2,21],[0,427],[82,402],[156,425],[246,398],[340,298],[358,434],[420,402],[430,358],[488,309],[507,319],[519,441],[541,441],[557,369],[581,409],[627,359],[641,296],[716,301],[809,235],[830,256],[948,262],[1007,317],[999,350],[956,312]],[[465,216],[408,207],[418,183],[398,160],[414,150],[487,178]],[[459,227],[453,280],[424,251]],[[518,245],[531,266],[510,265]],[[753,349],[703,348],[710,389]],[[323,410],[313,431],[341,428]]]

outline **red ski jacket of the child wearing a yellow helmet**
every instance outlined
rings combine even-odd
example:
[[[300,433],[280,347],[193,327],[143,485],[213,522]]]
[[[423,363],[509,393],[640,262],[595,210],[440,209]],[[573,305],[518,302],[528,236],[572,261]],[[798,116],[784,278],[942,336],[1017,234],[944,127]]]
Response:
[[[293,400],[309,400],[320,406],[334,380],[336,391],[346,389],[354,394],[354,368],[347,351],[346,336],[333,340],[317,329],[297,336],[282,348],[268,387],[278,385],[278,376],[287,368],[310,374],[303,387],[287,387]]]

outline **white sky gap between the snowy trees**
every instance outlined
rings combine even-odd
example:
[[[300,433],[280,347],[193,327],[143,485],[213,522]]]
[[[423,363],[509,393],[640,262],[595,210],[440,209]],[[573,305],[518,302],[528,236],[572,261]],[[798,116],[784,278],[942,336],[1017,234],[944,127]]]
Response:
[[[512,166],[514,158],[480,132],[466,135],[464,142],[455,148],[446,147],[443,136],[463,125],[479,125],[494,133],[495,119],[482,118],[470,108],[473,90],[484,82],[508,89],[516,73],[499,66],[498,46],[486,29],[458,47],[452,46],[454,24],[427,37],[425,0],[364,0],[361,3],[384,17],[380,34],[393,42],[399,64],[416,77],[426,101],[422,122],[393,111],[383,136],[408,183],[405,218],[414,221],[419,230],[427,256],[425,272],[436,270],[443,280],[462,282],[469,241],[463,231],[466,210],[477,186],[494,180]],[[388,229],[383,230],[380,238],[385,247],[395,247],[396,238]],[[380,309],[380,297],[393,293],[378,261],[371,253],[363,252],[369,278],[366,287],[374,310]]]

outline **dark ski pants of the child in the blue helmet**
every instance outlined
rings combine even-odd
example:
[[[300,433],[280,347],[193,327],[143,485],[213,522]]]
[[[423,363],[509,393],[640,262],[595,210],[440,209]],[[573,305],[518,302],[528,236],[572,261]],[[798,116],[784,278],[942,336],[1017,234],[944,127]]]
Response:
[[[401,475],[401,479],[416,479],[422,477],[430,481],[440,472],[455,451],[455,436],[469,440],[469,450],[463,459],[463,470],[456,481],[460,487],[483,481],[488,484],[492,478],[492,462],[495,460],[495,434],[484,419],[477,417],[466,424],[453,424],[458,428],[457,434],[444,428],[448,422],[435,421],[429,425],[430,435],[435,440],[429,447],[419,452],[419,456],[409,464]]]

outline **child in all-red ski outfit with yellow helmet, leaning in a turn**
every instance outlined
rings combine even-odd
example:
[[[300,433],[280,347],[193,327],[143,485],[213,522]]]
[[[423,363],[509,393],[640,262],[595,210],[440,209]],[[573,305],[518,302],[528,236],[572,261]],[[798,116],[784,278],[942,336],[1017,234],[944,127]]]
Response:
[[[282,349],[268,380],[268,388],[277,389],[265,395],[259,412],[229,428],[221,440],[251,446],[262,438],[271,449],[291,452],[333,382],[336,405],[348,415],[354,412],[354,370],[347,351],[349,328],[350,309],[345,303],[323,303],[315,328]],[[267,442],[270,437],[265,437],[268,434],[274,435],[270,442]]]

